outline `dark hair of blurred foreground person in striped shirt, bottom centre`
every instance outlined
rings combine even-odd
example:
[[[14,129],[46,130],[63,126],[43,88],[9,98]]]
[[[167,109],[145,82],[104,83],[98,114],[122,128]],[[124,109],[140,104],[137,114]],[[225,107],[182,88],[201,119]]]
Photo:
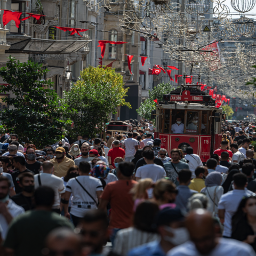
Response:
[[[159,207],[156,203],[144,201],[137,206],[134,213],[134,227],[146,231],[156,233],[156,214],[159,212]]]

